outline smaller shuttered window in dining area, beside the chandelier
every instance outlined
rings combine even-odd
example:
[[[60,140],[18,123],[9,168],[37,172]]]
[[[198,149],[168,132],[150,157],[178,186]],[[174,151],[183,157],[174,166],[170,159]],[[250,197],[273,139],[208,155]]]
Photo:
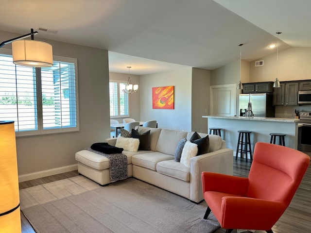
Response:
[[[129,116],[128,94],[122,91],[125,86],[124,81],[109,82],[110,117]]]

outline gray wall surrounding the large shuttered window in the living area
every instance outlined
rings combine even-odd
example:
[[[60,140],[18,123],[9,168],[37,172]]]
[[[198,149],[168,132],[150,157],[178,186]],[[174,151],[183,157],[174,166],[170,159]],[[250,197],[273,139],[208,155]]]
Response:
[[[16,36],[1,32],[0,41]],[[39,34],[35,39],[41,40]],[[78,59],[80,131],[17,137],[19,175],[75,165],[76,151],[110,135],[108,51],[44,41],[52,44],[54,55]],[[11,49],[11,45],[4,48]]]

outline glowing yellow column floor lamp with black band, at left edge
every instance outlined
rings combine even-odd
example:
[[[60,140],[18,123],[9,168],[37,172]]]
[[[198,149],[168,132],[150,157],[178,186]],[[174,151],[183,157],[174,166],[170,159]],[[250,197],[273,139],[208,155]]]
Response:
[[[14,121],[0,121],[0,232],[21,232]]]

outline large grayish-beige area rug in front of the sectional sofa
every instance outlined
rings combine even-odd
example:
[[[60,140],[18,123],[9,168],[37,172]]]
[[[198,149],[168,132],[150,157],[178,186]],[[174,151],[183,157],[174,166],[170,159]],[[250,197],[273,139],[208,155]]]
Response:
[[[212,233],[207,205],[134,178],[100,187],[83,176],[20,190],[22,213],[37,233]]]

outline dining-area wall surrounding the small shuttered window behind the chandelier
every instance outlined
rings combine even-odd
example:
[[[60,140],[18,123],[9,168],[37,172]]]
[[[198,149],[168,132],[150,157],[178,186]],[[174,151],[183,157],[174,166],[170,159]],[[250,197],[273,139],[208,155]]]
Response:
[[[123,122],[123,118],[133,118],[137,121],[140,121],[140,83],[139,75],[130,74],[132,84],[138,84],[138,91],[129,95],[129,117],[113,118],[118,120],[120,123]],[[109,72],[109,80],[124,80],[127,82],[128,74],[114,73]]]

